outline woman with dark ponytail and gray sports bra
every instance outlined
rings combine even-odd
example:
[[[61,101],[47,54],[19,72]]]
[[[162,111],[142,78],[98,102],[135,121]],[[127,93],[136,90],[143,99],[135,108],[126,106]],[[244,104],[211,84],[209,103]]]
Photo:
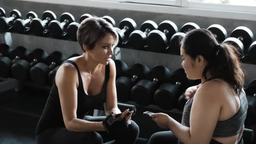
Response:
[[[153,134],[149,144],[176,138],[184,144],[243,144],[248,103],[237,49],[219,44],[206,29],[194,29],[181,40],[181,58],[187,77],[202,84],[187,101],[181,123],[163,113],[150,115],[171,131]]]

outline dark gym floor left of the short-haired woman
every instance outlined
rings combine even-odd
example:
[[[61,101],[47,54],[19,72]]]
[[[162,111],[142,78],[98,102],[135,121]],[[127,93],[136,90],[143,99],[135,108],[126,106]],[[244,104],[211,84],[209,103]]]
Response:
[[[0,93],[0,144],[36,144],[35,129],[45,94],[27,90]]]

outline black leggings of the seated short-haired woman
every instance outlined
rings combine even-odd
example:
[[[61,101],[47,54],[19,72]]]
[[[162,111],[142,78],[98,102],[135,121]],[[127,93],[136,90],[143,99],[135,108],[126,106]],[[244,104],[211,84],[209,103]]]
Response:
[[[100,122],[106,117],[85,116],[85,120]],[[139,126],[131,125],[123,131],[108,134],[106,131],[74,132],[67,128],[51,128],[36,136],[37,144],[134,144],[139,136]],[[112,141],[115,140],[115,141]]]

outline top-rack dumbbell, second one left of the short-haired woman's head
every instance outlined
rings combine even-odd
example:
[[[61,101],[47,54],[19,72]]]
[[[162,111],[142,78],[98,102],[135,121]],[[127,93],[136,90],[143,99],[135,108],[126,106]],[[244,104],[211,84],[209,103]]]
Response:
[[[67,26],[74,21],[75,21],[75,18],[74,16],[72,16],[72,14],[63,13],[61,14],[61,19],[60,19],[61,23],[56,20],[53,20],[49,23],[48,25],[49,32],[53,35],[53,37],[59,38],[61,37],[62,33],[66,31]]]

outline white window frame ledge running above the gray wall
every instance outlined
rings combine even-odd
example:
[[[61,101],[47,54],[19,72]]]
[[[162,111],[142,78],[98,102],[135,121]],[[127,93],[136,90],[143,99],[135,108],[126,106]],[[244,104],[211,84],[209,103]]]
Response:
[[[237,19],[237,20],[249,20],[256,21],[256,7],[255,11],[250,10],[248,6],[236,6],[236,5],[222,5],[219,4],[207,4],[207,3],[195,3],[188,2],[188,0],[176,0],[176,3],[180,5],[171,6],[173,1],[169,0],[155,0],[157,2],[165,1],[168,5],[152,5],[141,3],[125,3],[136,0],[24,0],[34,1],[40,3],[55,3],[64,5],[78,5],[85,7],[97,7],[105,9],[120,9],[128,11],[140,11],[140,12],[153,12],[153,13],[168,13],[187,16],[203,16],[222,19]],[[147,2],[153,0],[145,0]],[[138,1],[136,1],[138,2]],[[214,6],[217,5],[217,8]],[[220,6],[220,7],[219,7]],[[228,8],[230,6],[230,8]],[[244,8],[243,8],[244,7]],[[235,9],[233,9],[235,8]],[[230,10],[230,11],[228,11]],[[239,11],[237,11],[239,10]],[[249,10],[251,12],[242,12],[243,10]]]

